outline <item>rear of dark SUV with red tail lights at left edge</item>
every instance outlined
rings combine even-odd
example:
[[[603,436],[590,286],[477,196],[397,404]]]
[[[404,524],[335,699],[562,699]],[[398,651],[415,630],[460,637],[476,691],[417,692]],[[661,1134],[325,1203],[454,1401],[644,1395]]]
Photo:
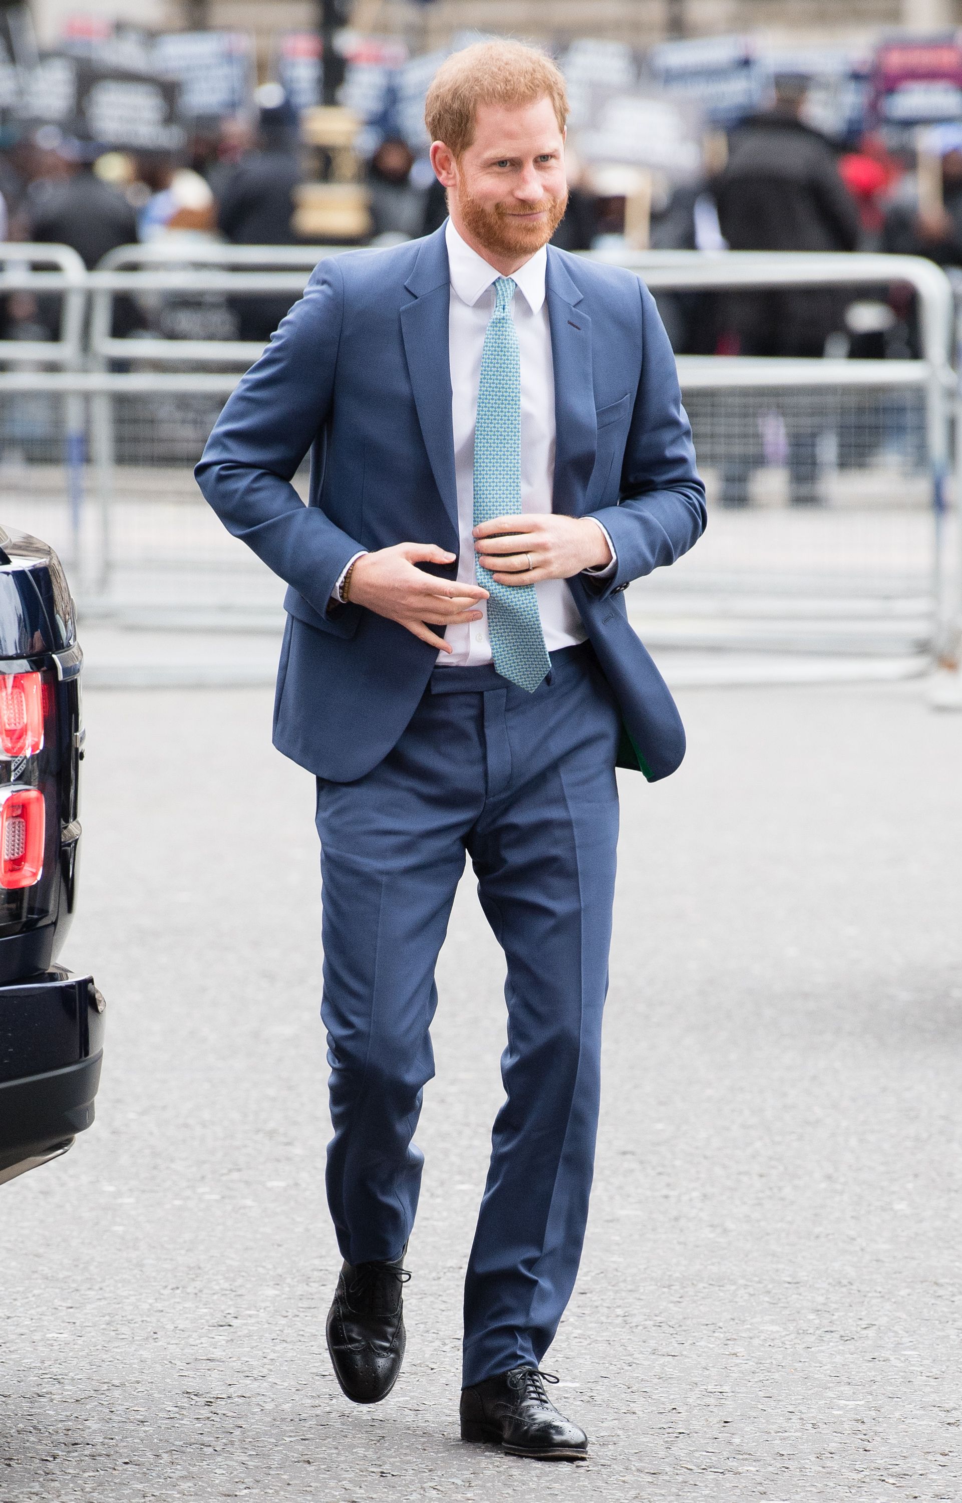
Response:
[[[74,915],[83,652],[57,555],[0,528],[0,1184],[93,1121],[104,998],[56,963]]]

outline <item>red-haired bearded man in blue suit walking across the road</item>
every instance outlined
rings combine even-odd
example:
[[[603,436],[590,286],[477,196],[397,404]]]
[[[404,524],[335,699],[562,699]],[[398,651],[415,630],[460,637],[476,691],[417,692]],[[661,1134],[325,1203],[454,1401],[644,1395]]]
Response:
[[[434,963],[469,854],[507,956],[508,1045],[461,1437],[579,1459],[538,1363],[588,1216],[615,765],[654,780],[684,755],[624,589],[691,547],[705,493],[649,293],[549,245],[565,116],[531,48],[448,59],[425,108],[448,222],[320,263],[197,476],[289,585],[274,736],[317,777],[337,1378],[374,1402],[401,1366]]]

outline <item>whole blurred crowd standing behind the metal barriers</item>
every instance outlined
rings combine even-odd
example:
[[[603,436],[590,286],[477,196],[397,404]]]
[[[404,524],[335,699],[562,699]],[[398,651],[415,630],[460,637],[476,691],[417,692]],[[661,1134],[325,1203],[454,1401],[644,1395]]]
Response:
[[[280,84],[259,89],[256,104],[244,116],[198,122],[177,155],[96,150],[51,125],[24,134],[0,150],[0,237],[69,245],[87,268],[135,242],[165,242],[174,254],[183,246],[188,260],[191,248],[207,242],[338,243],[317,221],[305,228],[305,194],[323,179],[325,161],[305,138],[304,120]],[[352,155],[347,173],[367,230],[349,236],[344,228],[340,243],[391,245],[437,228],[445,194],[427,158],[416,158],[400,135],[374,144],[368,159]],[[332,155],[326,165],[335,167]],[[331,171],[332,188],[337,180]],[[776,78],[767,108],[706,137],[694,180],[672,183],[648,173],[640,221],[630,180],[631,173],[582,162],[573,134],[570,203],[556,243],[570,251],[891,251],[962,269],[962,123],[927,128],[911,150],[893,149],[881,132],[845,149],[812,123],[800,77]],[[679,355],[920,353],[914,293],[905,283],[676,292],[657,301]],[[289,302],[287,295],[260,293],[125,293],[114,299],[113,334],[263,343]],[[8,292],[0,299],[0,338],[57,338],[59,320],[56,296]],[[697,427],[697,395],[691,401]],[[905,395],[878,398],[867,425],[830,421],[819,401],[818,392],[795,392],[791,403],[759,398],[758,412],[749,413],[746,398],[737,433],[726,424],[702,425],[699,454],[717,473],[722,505],[749,505],[753,475],[764,466],[788,472],[791,504],[818,505],[828,454],[837,467],[891,460],[911,469],[920,461],[923,425]],[[200,427],[206,421],[200,412],[189,418]],[[191,428],[185,451],[195,443]],[[26,440],[21,446],[29,448]]]

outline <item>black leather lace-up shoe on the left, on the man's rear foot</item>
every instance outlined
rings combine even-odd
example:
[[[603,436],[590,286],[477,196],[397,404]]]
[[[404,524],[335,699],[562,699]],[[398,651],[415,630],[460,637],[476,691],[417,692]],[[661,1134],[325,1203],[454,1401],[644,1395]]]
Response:
[[[334,1375],[355,1404],[388,1396],[404,1360],[404,1302],[410,1275],[397,1263],[346,1263],[328,1312]]]

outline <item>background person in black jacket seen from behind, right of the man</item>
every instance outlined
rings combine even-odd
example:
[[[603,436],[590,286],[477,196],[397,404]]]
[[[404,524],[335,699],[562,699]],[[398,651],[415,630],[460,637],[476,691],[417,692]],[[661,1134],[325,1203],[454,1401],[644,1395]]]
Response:
[[[842,182],[833,146],[801,120],[806,93],[803,78],[777,78],[773,108],[729,138],[728,162],[711,189],[722,234],[734,251],[854,251],[858,245],[858,206]],[[723,347],[731,355],[822,356],[828,335],[843,329],[845,302],[834,289],[729,293]],[[771,416],[759,415],[762,421]],[[813,413],[795,401],[785,422],[789,499],[818,504],[824,497]],[[740,433],[722,455],[723,505],[747,505],[756,460],[756,445]]]

